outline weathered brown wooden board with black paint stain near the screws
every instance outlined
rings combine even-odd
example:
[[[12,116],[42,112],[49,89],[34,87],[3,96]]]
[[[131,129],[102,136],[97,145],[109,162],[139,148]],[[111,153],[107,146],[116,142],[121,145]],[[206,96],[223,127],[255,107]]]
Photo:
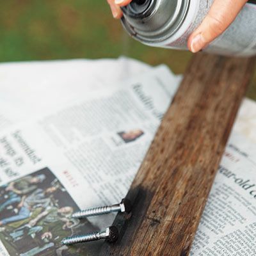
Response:
[[[127,195],[132,215],[118,214],[120,239],[100,255],[189,255],[253,67],[253,59],[193,58]]]

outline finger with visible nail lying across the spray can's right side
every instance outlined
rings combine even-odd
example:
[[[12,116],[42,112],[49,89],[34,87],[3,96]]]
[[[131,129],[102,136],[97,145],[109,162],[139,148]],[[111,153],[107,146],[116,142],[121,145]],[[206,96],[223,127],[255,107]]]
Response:
[[[188,48],[198,52],[221,35],[236,19],[247,0],[215,0],[202,24],[189,36]]]

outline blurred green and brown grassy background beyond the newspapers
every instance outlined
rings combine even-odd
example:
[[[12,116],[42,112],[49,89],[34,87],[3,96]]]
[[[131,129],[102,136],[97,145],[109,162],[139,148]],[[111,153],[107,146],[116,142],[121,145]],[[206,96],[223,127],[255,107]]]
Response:
[[[0,10],[0,61],[131,58],[183,73],[192,54],[129,38],[106,0],[11,0]],[[256,76],[247,96],[256,100]]]

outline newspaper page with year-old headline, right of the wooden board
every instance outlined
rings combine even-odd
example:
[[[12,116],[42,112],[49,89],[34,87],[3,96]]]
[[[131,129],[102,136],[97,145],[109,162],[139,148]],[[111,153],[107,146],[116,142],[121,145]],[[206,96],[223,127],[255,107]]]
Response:
[[[256,145],[232,134],[191,256],[256,255]]]

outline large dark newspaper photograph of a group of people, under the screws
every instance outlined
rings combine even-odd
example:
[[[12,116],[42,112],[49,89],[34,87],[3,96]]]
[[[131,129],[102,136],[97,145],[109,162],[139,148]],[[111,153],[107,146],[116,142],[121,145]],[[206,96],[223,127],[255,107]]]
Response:
[[[1,186],[0,193],[1,255],[77,255],[77,248],[61,244],[63,237],[97,230],[71,218],[79,208],[48,168]]]

